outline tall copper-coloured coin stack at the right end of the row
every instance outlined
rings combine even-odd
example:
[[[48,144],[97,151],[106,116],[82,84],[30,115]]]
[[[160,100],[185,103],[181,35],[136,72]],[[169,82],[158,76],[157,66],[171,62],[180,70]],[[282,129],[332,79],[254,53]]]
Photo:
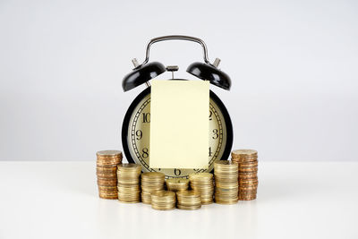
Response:
[[[258,152],[253,149],[238,149],[231,153],[232,160],[239,164],[239,200],[256,199],[258,180]]]

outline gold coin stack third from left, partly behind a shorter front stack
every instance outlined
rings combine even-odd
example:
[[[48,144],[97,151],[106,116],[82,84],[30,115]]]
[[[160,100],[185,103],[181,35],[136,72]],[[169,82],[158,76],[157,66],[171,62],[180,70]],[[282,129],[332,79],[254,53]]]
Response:
[[[141,201],[151,203],[150,193],[164,190],[165,177],[163,173],[148,172],[141,174]]]

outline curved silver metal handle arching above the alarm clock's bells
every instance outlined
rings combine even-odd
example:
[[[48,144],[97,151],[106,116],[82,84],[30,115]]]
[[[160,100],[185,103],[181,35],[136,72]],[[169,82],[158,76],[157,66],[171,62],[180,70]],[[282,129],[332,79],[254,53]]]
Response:
[[[172,39],[189,40],[189,41],[199,43],[201,45],[201,47],[203,48],[203,57],[204,57],[205,63],[210,64],[209,59],[208,59],[208,47],[205,44],[205,42],[200,38],[193,38],[190,36],[183,36],[183,35],[169,35],[169,36],[163,36],[163,37],[158,37],[158,38],[152,38],[151,40],[149,40],[149,43],[147,44],[146,58],[142,64],[147,64],[149,62],[149,49],[150,49],[151,45],[153,45],[154,43],[159,42],[159,41],[172,40]]]

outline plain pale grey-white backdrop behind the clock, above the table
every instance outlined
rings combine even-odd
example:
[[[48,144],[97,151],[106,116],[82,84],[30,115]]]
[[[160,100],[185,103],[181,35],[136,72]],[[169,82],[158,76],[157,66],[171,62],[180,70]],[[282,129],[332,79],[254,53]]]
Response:
[[[131,59],[150,38],[202,38],[233,81],[212,86],[234,149],[260,160],[357,160],[355,1],[0,1],[0,160],[93,160],[122,149]],[[187,65],[199,45],[164,42],[150,60]],[[161,79],[169,78],[166,73]]]

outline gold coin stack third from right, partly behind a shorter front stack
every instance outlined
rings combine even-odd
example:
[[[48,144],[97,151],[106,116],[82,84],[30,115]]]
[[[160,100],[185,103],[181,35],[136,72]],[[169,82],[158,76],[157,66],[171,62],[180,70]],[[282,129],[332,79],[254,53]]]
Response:
[[[189,180],[192,190],[200,192],[201,204],[210,204],[213,202],[214,182],[212,174],[191,174],[189,175]]]

